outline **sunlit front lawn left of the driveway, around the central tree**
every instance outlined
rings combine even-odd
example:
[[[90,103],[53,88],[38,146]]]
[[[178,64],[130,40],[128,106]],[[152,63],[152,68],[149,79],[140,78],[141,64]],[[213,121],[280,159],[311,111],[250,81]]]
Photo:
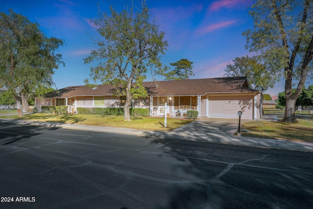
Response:
[[[167,127],[164,128],[164,118],[161,117],[131,117],[131,122],[126,122],[124,116],[103,115],[58,115],[58,114],[30,114],[22,117],[1,116],[1,118],[14,118],[35,121],[49,121],[61,123],[75,123],[84,125],[98,125],[123,127],[144,130],[171,131],[193,120],[183,118],[167,118]]]

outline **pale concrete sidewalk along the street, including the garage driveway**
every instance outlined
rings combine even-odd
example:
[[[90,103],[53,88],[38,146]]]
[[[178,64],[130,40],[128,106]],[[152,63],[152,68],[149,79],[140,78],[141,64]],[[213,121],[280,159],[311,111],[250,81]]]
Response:
[[[35,125],[114,134],[125,134],[142,137],[156,137],[163,139],[190,140],[251,147],[313,151],[313,143],[310,142],[285,141],[277,139],[258,139],[234,136],[233,134],[238,129],[237,119],[203,118],[188,123],[187,125],[181,126],[170,132],[1,118],[0,122],[19,125]],[[243,122],[245,122],[245,120],[243,120]]]

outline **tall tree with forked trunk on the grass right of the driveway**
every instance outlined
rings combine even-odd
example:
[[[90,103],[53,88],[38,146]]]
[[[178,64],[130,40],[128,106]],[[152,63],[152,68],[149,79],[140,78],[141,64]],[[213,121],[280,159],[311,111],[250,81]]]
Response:
[[[257,0],[249,13],[254,29],[244,32],[246,48],[260,53],[268,71],[284,76],[286,109],[282,121],[296,122],[296,101],[313,65],[313,1]]]

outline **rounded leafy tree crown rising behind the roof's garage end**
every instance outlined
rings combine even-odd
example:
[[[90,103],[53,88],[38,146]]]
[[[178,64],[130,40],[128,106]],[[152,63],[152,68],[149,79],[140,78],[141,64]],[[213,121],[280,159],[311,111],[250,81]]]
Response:
[[[226,65],[224,71],[224,77],[247,77],[250,88],[261,92],[274,87],[275,79],[255,56],[236,57],[233,64]]]

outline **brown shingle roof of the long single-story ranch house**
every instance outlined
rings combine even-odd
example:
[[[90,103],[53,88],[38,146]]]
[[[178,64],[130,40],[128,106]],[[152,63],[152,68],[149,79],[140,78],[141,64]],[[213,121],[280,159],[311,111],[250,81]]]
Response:
[[[246,77],[203,78],[190,80],[144,82],[149,95],[178,96],[205,95],[206,93],[258,92],[248,88]],[[66,98],[72,96],[112,95],[115,88],[111,85],[71,86],[46,94],[46,98]]]

